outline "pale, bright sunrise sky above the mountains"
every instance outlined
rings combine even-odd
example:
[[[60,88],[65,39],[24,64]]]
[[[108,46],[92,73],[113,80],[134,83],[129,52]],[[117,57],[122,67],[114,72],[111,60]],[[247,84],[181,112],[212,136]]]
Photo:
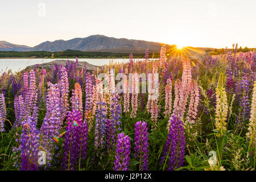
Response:
[[[0,40],[42,42],[106,35],[178,44],[256,47],[255,0],[0,0]]]

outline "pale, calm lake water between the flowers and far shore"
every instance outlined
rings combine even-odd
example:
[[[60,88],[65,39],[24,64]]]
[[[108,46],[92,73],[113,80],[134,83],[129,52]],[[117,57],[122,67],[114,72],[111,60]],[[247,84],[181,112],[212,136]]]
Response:
[[[42,64],[49,63],[53,60],[61,60],[61,59],[0,59],[0,74],[5,71],[11,69],[11,71],[18,72],[22,69],[25,69],[27,66],[34,64]],[[76,61],[76,59],[64,59],[64,60],[72,60]],[[102,66],[105,64],[109,64],[109,61],[113,60],[113,63],[127,63],[129,59],[79,59],[79,61],[86,61],[87,63]],[[142,59],[135,59],[135,61]]]

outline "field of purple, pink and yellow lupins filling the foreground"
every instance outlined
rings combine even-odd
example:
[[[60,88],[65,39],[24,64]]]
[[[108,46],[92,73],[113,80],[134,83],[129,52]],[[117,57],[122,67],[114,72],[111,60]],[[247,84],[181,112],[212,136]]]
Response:
[[[201,60],[145,52],[92,72],[77,60],[3,73],[0,169],[255,170],[256,52]],[[118,73],[145,73],[147,85],[158,73],[158,97],[135,77],[131,93],[127,79],[118,93]]]

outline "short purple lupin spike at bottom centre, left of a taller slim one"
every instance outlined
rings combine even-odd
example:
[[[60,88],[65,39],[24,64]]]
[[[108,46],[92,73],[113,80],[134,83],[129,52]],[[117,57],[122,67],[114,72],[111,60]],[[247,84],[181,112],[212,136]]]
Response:
[[[130,138],[124,133],[118,134],[117,150],[113,167],[115,171],[129,171],[130,148]]]

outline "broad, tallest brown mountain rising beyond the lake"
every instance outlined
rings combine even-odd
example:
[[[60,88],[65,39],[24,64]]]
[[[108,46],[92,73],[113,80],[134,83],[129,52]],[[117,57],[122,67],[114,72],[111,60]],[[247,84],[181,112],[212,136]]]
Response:
[[[146,49],[149,49],[150,52],[159,52],[161,45],[162,43],[147,42],[144,40],[117,39],[104,35],[91,35],[87,38],[75,38],[67,41],[47,41],[27,49],[27,51],[57,52],[71,49],[78,51],[142,53]]]

